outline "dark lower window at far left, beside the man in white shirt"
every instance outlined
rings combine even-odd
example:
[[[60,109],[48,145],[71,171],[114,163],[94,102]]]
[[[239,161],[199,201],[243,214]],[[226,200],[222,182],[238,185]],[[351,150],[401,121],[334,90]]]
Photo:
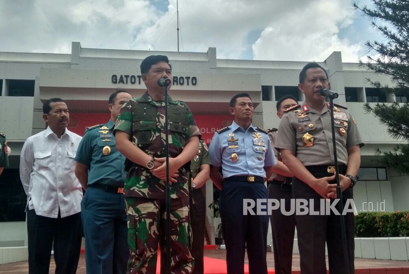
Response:
[[[27,196],[18,169],[4,169],[0,176],[0,222],[26,220]]]

